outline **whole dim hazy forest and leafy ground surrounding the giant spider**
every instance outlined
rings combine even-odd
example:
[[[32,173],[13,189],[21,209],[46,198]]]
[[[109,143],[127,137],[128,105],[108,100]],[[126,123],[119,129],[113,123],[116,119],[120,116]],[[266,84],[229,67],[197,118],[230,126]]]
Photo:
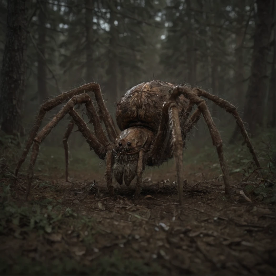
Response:
[[[0,0],[0,274],[276,275],[275,22],[276,0]],[[208,101],[230,195],[201,118],[183,152],[182,206],[173,159],[145,169],[139,198],[134,181],[114,180],[110,197],[76,128],[65,181],[67,115],[40,144],[26,201],[30,154],[14,169],[43,102],[95,81],[114,118],[120,96],[153,78],[235,105],[261,168]]]

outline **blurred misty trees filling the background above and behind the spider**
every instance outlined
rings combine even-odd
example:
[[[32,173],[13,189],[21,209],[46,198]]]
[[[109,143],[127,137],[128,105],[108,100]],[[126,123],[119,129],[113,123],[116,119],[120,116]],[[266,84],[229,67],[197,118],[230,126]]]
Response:
[[[275,2],[1,0],[1,129],[22,134],[40,103],[91,81],[114,114],[126,89],[153,77],[229,100],[250,133],[275,128]]]

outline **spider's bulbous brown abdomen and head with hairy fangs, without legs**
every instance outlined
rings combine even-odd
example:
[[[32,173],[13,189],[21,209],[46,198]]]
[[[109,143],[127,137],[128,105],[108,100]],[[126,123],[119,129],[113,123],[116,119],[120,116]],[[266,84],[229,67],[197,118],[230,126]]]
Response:
[[[158,133],[164,105],[169,102],[173,86],[162,81],[140,83],[129,89],[117,103],[116,122],[122,132],[116,138],[113,149],[113,175],[120,185],[124,180],[125,185],[129,186],[135,178],[140,150],[144,152],[143,171],[145,166],[159,166],[173,157],[172,145],[169,143],[162,158],[152,158],[152,154],[149,153]],[[183,95],[177,99],[181,121],[185,119],[187,103],[188,100]],[[165,136],[164,133],[164,138]]]

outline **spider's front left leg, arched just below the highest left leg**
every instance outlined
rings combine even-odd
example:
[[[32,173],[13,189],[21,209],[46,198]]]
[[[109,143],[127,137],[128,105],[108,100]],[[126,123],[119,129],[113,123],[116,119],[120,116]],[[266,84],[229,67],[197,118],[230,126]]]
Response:
[[[81,119],[78,113],[73,109],[73,107],[77,103],[86,103],[90,99],[88,94],[81,94],[78,96],[74,96],[68,103],[57,113],[57,115],[49,122],[35,137],[34,145],[31,153],[30,165],[28,168],[28,176],[27,176],[27,190],[26,190],[26,199],[30,192],[31,183],[33,180],[33,169],[36,162],[36,158],[39,152],[40,143],[46,138],[46,136],[51,132],[51,130],[56,126],[59,121],[69,112],[72,116],[75,124],[78,126],[79,131],[83,134],[84,138],[90,145],[91,149],[101,158],[104,159],[107,149],[104,145],[97,139],[97,137],[91,132],[91,130],[87,127],[86,123]]]

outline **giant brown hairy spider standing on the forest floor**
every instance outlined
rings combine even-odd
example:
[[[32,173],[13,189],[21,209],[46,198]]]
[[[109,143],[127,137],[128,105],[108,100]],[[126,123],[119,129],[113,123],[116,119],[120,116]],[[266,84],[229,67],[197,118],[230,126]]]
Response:
[[[99,114],[97,114],[93,102],[87,94],[87,92],[91,91],[95,94]],[[145,166],[159,166],[164,161],[174,157],[179,202],[181,204],[184,182],[183,147],[187,134],[202,114],[211,134],[213,145],[217,149],[223,173],[225,193],[228,194],[229,173],[227,162],[223,155],[221,135],[214,124],[206,101],[200,98],[201,96],[213,101],[216,105],[224,108],[226,112],[234,116],[247,147],[253,155],[256,166],[260,167],[245,126],[236,108],[231,103],[199,88],[191,88],[184,84],[175,86],[171,83],[153,80],[132,87],[121,97],[120,102],[117,103],[116,121],[121,130],[120,134],[118,134],[112,117],[106,108],[98,83],[84,84],[43,103],[31,129],[26,147],[15,169],[15,177],[33,144],[27,176],[27,198],[33,179],[33,168],[38,156],[39,144],[46,138],[54,126],[69,113],[72,120],[63,138],[66,181],[68,181],[67,140],[74,124],[76,124],[91,149],[94,150],[99,158],[106,162],[105,178],[108,191],[111,195],[113,195],[112,175],[114,175],[119,184],[122,184],[124,181],[127,186],[137,176],[135,193],[139,195],[142,184],[142,173]],[[67,103],[38,133],[39,126],[46,112],[62,104],[64,101],[67,101]],[[89,122],[93,124],[94,131],[91,131],[87,127],[85,121],[74,109],[76,104],[82,103],[86,106],[87,115],[90,119]],[[194,105],[197,105],[197,109],[189,116]],[[102,118],[105,124],[109,140],[104,134],[100,118]]]

